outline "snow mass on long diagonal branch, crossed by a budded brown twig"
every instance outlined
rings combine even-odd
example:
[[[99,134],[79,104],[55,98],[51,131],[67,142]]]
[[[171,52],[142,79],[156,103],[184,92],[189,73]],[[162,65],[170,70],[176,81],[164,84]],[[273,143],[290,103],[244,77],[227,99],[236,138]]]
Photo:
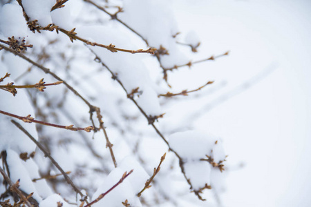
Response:
[[[122,30],[117,30],[117,25],[114,22],[106,23],[104,26],[77,28],[76,32],[78,35],[86,39],[93,39],[97,43],[106,45],[113,43],[120,48],[138,49],[138,46],[131,43],[130,39],[124,39],[123,35],[125,34],[122,35],[120,33]],[[156,92],[158,86],[151,81],[147,66],[141,61],[146,54],[133,55],[128,52],[111,52],[99,47],[90,46],[90,48],[117,75],[117,79],[120,79],[128,94],[139,88],[142,95],[137,98],[137,101],[141,104],[142,109],[147,112],[147,115],[162,114]]]

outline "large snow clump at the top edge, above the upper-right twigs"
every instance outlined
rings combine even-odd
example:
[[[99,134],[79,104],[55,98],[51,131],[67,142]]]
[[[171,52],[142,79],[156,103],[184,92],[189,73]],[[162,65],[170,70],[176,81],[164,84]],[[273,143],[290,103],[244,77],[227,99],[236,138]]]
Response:
[[[143,8],[143,9],[141,9]],[[173,14],[172,1],[124,1],[124,12],[120,13],[120,19],[142,34],[150,46],[166,48],[169,55],[161,56],[164,68],[172,68],[175,65],[187,63],[187,57],[178,50],[173,38],[178,30],[178,23]]]

